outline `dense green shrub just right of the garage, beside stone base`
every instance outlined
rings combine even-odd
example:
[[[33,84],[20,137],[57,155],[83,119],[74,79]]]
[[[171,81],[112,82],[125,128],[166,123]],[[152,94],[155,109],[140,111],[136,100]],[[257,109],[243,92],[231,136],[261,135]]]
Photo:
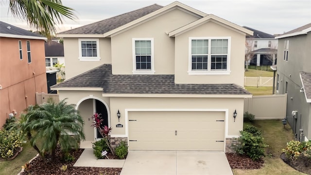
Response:
[[[261,132],[257,127],[247,126],[244,131],[240,131],[240,134],[238,143],[233,147],[236,153],[247,155],[254,161],[265,157],[264,148],[268,145],[263,143]]]

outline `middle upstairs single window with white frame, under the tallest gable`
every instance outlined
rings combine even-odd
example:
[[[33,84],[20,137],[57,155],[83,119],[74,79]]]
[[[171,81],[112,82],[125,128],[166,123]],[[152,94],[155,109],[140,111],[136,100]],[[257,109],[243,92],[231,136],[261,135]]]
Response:
[[[154,47],[152,38],[133,38],[133,73],[153,74]]]

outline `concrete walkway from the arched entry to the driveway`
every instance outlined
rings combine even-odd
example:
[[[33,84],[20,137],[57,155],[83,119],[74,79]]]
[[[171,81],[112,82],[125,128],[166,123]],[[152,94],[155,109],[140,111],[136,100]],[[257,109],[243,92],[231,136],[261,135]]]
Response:
[[[97,159],[92,148],[85,148],[73,166],[122,168],[124,161],[124,159]]]

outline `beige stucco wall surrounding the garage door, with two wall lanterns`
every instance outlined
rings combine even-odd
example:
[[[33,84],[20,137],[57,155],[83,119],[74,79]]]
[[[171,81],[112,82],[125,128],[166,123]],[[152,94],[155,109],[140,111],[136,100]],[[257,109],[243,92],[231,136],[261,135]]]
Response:
[[[111,134],[125,134],[125,109],[228,109],[228,136],[237,136],[243,128],[243,98],[110,98]],[[116,115],[118,109],[121,113],[122,128],[114,127],[118,124]],[[233,112],[237,110],[234,122]],[[231,137],[230,137],[231,138]]]

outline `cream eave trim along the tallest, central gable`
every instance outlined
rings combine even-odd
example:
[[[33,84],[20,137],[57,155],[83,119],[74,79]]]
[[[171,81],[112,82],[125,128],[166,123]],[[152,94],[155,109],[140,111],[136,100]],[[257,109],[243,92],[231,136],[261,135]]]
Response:
[[[127,23],[127,24],[124,24],[124,25],[122,25],[122,26],[120,26],[120,27],[118,27],[118,28],[116,28],[114,30],[111,30],[109,32],[104,33],[104,37],[111,37],[111,35],[119,33],[119,32],[121,32],[122,30],[124,30],[126,28],[129,28],[129,27],[131,27],[131,26],[133,26],[135,24],[138,24],[139,22],[147,20],[148,18],[152,18],[152,17],[154,17],[154,16],[156,16],[156,15],[162,13],[162,12],[165,12],[165,11],[175,7],[175,6],[178,6],[180,8],[186,9],[186,10],[188,10],[188,11],[190,11],[190,12],[196,14],[196,15],[199,15],[201,17],[207,16],[207,14],[204,13],[204,12],[201,12],[201,11],[196,10],[196,9],[194,9],[192,7],[189,7],[189,6],[187,6],[187,5],[183,4],[183,3],[175,1],[175,2],[173,2],[173,3],[171,3],[171,4],[167,5],[167,6],[164,6],[164,7],[160,8],[160,9],[158,9],[158,10],[148,14],[148,15],[145,15],[145,16],[143,16],[141,18],[138,18],[138,19],[136,19],[134,21],[131,21],[131,22]]]

